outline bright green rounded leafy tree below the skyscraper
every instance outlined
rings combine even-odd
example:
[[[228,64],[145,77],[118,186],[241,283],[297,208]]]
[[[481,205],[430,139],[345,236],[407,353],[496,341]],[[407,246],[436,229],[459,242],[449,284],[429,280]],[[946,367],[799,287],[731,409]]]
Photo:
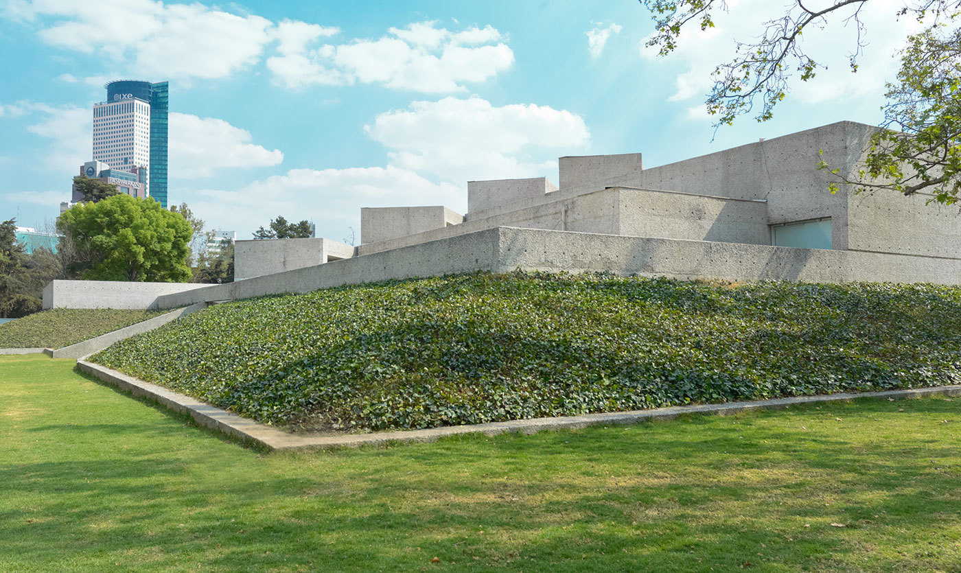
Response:
[[[61,215],[61,229],[78,245],[81,278],[184,283],[190,224],[148,197],[120,194]]]

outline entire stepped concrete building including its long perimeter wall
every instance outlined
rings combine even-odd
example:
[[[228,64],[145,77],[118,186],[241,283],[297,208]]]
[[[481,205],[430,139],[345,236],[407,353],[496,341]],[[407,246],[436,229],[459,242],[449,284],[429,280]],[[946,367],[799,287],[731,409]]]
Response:
[[[834,176],[817,169],[824,160],[855,179],[874,129],[845,121],[652,168],[641,154],[563,157],[559,185],[543,177],[469,182],[463,215],[441,206],[364,209],[358,246],[326,238],[240,240],[234,283],[127,287],[136,304],[166,309],[518,268],[961,285],[957,208],[927,205],[923,193],[848,186],[832,193]],[[54,281],[44,308],[53,304],[48,298],[84,308],[92,286],[83,283]]]

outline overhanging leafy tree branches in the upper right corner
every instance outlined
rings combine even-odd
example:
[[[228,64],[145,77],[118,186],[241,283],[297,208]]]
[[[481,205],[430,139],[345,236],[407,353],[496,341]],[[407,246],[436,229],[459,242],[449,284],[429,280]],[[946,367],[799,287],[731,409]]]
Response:
[[[724,0],[639,0],[653,13],[655,33],[648,46],[660,55],[672,52],[686,26],[702,30],[714,26],[714,14],[727,10]],[[850,69],[865,43],[861,11],[876,0],[832,0],[820,10],[795,0],[779,18],[766,23],[750,43],[738,43],[730,62],[720,63],[712,76],[707,112],[716,117],[715,129],[736,117],[754,112],[757,121],[773,116],[795,75],[802,82],[817,76],[824,65],[814,61],[800,44],[805,30],[824,28],[831,21],[853,23],[856,39]],[[927,28],[908,38],[900,55],[897,83],[888,84],[884,122],[871,138],[865,166],[856,180],[846,179],[822,162],[856,191],[886,188],[910,195],[932,194],[932,201],[952,204],[961,190],[961,36],[955,27],[961,0],[902,0],[893,17],[915,17]],[[755,104],[760,111],[755,112]],[[832,185],[832,190],[837,184]]]

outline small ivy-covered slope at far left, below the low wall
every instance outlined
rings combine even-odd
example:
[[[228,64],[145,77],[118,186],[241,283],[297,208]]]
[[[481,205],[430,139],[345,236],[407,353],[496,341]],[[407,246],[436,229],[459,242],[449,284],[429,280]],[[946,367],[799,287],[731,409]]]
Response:
[[[0,324],[0,348],[62,348],[166,311],[51,309]]]

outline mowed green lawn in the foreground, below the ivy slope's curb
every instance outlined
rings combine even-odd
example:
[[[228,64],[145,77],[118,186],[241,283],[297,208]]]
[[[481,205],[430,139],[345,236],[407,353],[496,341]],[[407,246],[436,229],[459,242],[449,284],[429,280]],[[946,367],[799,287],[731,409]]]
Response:
[[[2,571],[961,570],[961,399],[276,454],[73,367],[0,357]]]

